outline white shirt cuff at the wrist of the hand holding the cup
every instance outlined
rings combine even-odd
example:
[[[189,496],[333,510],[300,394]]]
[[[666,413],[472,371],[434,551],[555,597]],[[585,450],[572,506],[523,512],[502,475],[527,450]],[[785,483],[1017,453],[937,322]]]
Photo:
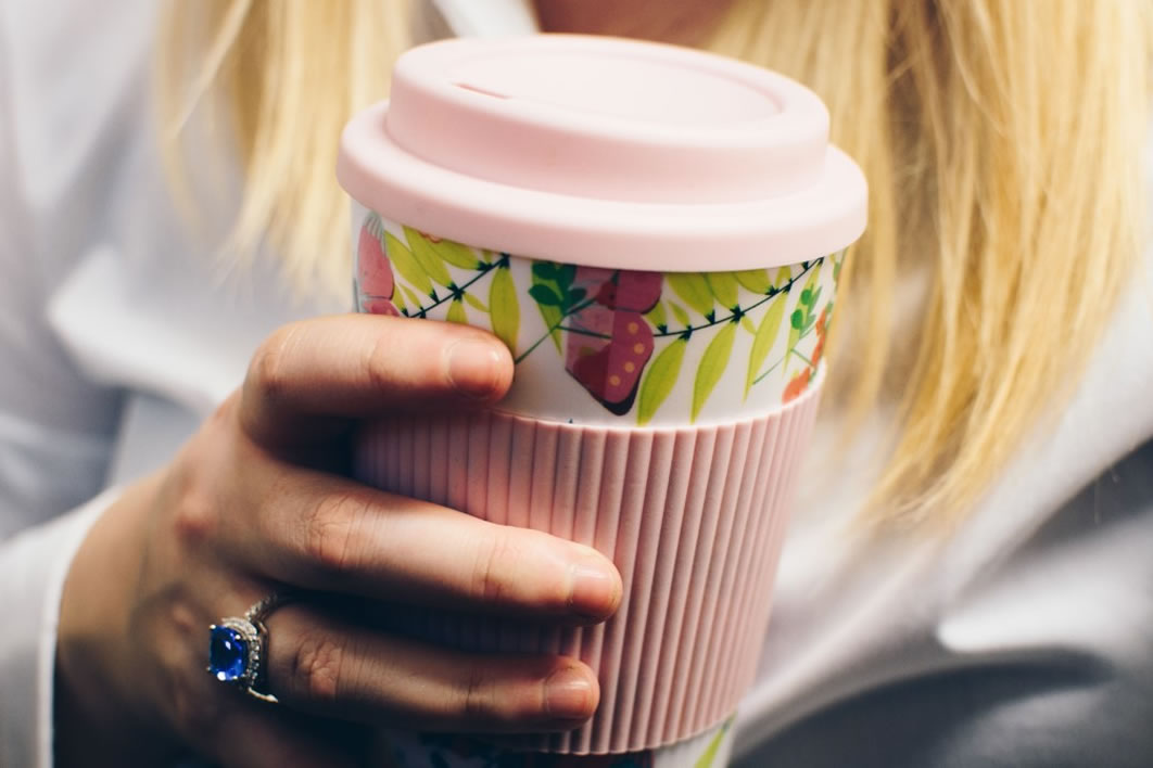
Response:
[[[0,545],[0,766],[52,768],[60,594],[73,555],[115,497],[107,491]]]

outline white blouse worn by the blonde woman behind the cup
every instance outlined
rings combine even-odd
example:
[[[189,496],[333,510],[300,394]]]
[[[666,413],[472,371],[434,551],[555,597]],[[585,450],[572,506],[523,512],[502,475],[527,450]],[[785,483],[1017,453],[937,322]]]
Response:
[[[522,0],[437,5],[425,35],[533,26]],[[5,768],[52,763],[60,591],[97,494],[167,462],[273,328],[347,309],[294,303],[273,261],[225,276],[187,234],[149,120],[156,23],[152,0],[0,2]],[[835,459],[819,427],[740,765],[1153,763],[1151,279],[943,547],[853,540],[876,432]]]

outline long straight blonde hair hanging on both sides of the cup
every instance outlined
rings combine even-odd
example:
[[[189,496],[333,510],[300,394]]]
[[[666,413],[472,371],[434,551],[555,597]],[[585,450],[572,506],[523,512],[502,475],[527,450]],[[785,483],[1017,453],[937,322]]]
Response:
[[[235,117],[234,242],[267,231],[301,284],[346,291],[337,138],[383,97],[406,5],[213,0],[165,52],[169,124],[210,83]],[[1150,30],[1144,0],[734,0],[711,36],[820,93],[869,178],[832,388],[850,421],[902,393],[871,520],[963,519],[1088,363],[1144,235]],[[898,334],[910,272],[927,294]]]

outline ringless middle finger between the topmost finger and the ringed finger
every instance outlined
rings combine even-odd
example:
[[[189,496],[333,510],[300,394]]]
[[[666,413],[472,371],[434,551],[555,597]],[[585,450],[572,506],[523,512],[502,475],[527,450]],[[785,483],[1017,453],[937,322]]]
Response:
[[[223,520],[217,546],[266,579],[576,621],[604,621],[620,603],[617,569],[591,547],[281,462],[247,462],[243,473],[234,503],[248,514]]]

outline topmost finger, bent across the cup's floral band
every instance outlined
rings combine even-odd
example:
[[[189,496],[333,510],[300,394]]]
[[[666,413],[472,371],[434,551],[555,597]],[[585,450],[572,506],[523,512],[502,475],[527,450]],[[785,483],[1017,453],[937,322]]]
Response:
[[[297,446],[323,439],[334,420],[495,402],[512,370],[508,349],[469,326],[369,314],[294,322],[253,356],[240,425],[264,448]]]

